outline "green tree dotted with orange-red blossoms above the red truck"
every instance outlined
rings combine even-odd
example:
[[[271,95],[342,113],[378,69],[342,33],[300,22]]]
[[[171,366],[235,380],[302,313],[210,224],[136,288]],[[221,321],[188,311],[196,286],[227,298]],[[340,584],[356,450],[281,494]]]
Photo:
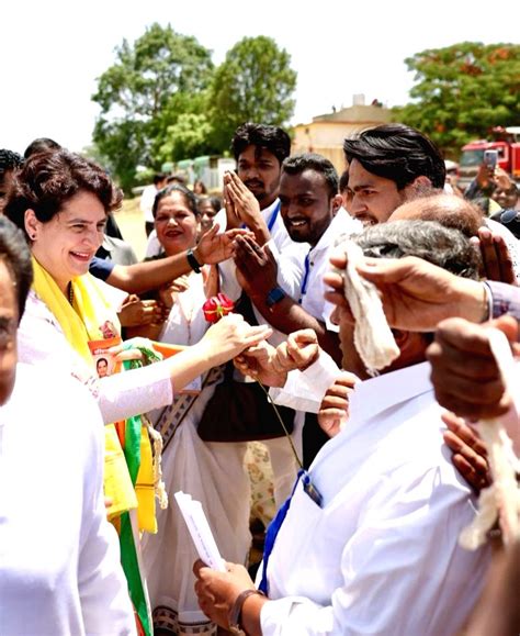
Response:
[[[520,45],[464,42],[405,63],[417,83],[395,119],[427,133],[446,156],[494,126],[520,124]]]

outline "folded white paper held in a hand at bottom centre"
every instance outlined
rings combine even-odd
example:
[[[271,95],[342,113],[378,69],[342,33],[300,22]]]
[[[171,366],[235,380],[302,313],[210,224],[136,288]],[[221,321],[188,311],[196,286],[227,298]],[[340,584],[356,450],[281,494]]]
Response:
[[[191,494],[186,494],[182,492],[182,490],[176,492],[174,498],[181,509],[182,516],[184,517],[201,560],[212,568],[212,570],[225,572],[226,566],[224,565],[224,559],[221,557],[201,502],[195,501],[191,498]]]

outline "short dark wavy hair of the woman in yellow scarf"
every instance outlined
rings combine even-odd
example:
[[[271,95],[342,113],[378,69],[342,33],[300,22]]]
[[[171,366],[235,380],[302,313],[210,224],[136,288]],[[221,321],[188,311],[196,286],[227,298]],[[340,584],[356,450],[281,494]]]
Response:
[[[37,153],[16,174],[3,213],[27,237],[26,210],[34,210],[38,221],[48,223],[81,191],[94,194],[106,214],[123,199],[123,192],[98,164],[63,148]]]

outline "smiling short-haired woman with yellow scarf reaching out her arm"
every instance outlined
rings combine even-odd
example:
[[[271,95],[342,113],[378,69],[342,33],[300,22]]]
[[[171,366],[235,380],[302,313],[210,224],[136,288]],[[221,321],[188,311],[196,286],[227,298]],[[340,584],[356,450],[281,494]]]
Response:
[[[108,495],[112,487],[110,492],[117,498],[109,512],[122,520],[122,562],[134,583],[132,599],[146,627],[146,588],[136,546],[128,537],[138,528],[156,528],[151,447],[146,428],[140,427],[138,459],[127,446],[123,457],[113,423],[166,406],[186,383],[234,357],[242,345],[252,344],[256,334],[262,338],[270,330],[249,327],[241,316],[226,316],[230,320],[221,321],[196,345],[169,359],[99,379],[89,343],[117,337],[118,321],[102,286],[88,271],[102,242],[106,214],[117,208],[121,197],[102,168],[59,149],[25,161],[13,181],[5,215],[24,232],[33,256],[34,282],[19,330],[21,359],[44,366],[49,375],[58,367],[60,373],[68,372],[87,384],[97,398],[106,425],[106,457],[121,458],[120,464],[106,464]],[[109,324],[113,325],[110,334]],[[126,459],[129,465],[129,457],[133,479],[123,464]],[[109,469],[117,470],[111,473]]]

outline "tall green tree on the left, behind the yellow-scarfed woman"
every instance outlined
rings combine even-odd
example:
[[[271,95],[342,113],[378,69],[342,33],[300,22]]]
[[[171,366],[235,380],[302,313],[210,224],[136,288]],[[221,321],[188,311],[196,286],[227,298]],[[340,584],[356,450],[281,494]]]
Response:
[[[159,148],[183,112],[201,108],[213,71],[211,52],[170,25],[149,26],[98,79],[92,100],[101,107],[93,140],[125,190],[137,165],[159,167]]]

